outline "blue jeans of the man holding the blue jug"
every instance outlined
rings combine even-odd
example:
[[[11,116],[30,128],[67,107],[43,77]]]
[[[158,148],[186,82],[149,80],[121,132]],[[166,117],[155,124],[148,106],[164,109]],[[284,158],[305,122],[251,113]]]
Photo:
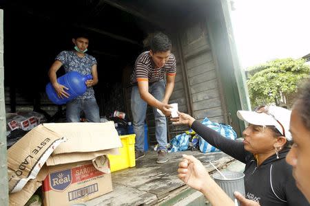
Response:
[[[67,122],[80,122],[81,111],[85,113],[87,122],[100,122],[99,106],[95,98],[67,102]]]

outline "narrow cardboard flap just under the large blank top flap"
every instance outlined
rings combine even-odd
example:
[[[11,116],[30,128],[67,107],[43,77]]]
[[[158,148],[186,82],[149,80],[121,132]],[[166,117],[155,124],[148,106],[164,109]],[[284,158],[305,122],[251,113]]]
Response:
[[[73,163],[78,161],[92,160],[102,155],[119,155],[119,149],[101,150],[96,152],[73,152],[59,155],[51,155],[46,161],[46,165],[61,165],[65,163]]]

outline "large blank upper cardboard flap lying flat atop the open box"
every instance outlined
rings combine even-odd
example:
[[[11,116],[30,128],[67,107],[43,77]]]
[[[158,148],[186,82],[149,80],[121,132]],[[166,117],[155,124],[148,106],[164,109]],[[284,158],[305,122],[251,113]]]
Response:
[[[54,150],[54,155],[72,152],[93,152],[122,146],[114,122],[49,123],[43,124],[43,126],[68,139]]]

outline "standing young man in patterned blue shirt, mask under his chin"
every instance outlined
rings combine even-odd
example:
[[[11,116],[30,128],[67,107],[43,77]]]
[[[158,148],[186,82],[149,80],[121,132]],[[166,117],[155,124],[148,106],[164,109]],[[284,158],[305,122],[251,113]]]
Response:
[[[50,67],[50,71],[48,71],[50,82],[60,98],[68,98],[68,88],[57,82],[56,71],[63,66],[65,73],[78,71],[83,75],[92,74],[92,80],[85,82],[87,91],[83,95],[67,102],[66,116],[67,122],[80,122],[80,113],[83,111],[87,122],[100,122],[99,106],[94,96],[94,89],[92,88],[98,83],[96,58],[85,54],[89,43],[86,34],[76,34],[72,38],[72,43],[74,44],[74,50],[63,51],[56,56],[54,63]]]

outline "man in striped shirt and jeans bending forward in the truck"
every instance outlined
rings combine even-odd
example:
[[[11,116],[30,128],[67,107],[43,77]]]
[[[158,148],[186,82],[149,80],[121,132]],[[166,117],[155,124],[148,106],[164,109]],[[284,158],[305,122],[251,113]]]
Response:
[[[174,90],[176,58],[171,54],[172,43],[168,36],[158,32],[149,41],[150,50],[138,56],[131,76],[132,116],[136,134],[136,159],[144,157],[144,122],[147,104],[153,107],[158,141],[157,163],[165,163],[167,158],[167,122],[171,115],[168,104]],[[165,76],[167,76],[165,80]],[[166,82],[167,81],[167,82]],[[163,112],[158,113],[157,108]]]

